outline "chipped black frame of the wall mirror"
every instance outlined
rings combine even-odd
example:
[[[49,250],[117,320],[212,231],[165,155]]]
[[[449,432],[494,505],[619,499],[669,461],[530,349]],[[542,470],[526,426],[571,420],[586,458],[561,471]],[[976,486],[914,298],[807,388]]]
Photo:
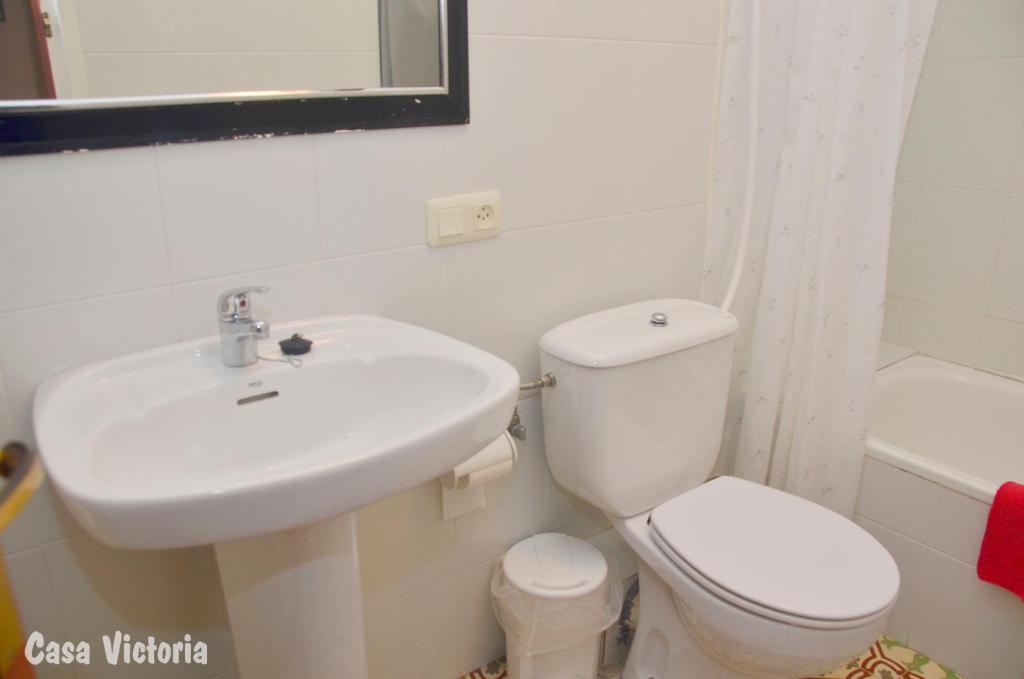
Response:
[[[447,93],[0,113],[0,156],[469,123],[467,0],[447,0]]]

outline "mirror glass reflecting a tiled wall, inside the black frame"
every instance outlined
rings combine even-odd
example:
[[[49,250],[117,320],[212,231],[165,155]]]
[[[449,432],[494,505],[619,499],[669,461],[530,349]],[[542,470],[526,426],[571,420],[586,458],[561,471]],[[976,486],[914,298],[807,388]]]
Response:
[[[0,99],[443,85],[438,0],[0,2]]]

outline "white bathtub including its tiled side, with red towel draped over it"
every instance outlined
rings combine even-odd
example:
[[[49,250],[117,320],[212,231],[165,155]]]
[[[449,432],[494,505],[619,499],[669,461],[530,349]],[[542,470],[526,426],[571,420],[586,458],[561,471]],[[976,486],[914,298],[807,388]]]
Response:
[[[1007,480],[1024,482],[1024,383],[923,355],[879,371],[854,518],[900,568],[886,632],[970,679],[1024,679],[1024,602],[975,572]]]

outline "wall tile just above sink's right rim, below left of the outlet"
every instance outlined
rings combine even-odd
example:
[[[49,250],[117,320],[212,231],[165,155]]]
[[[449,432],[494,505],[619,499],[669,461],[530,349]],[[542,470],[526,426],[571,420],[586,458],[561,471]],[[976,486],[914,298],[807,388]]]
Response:
[[[443,249],[388,250],[323,263],[329,313],[373,313],[444,332],[449,325]]]

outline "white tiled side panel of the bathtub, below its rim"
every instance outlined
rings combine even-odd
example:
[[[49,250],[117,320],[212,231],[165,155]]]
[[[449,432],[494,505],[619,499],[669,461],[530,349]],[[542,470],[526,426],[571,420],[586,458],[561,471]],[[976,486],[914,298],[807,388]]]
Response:
[[[975,572],[988,510],[868,458],[855,519],[899,565],[887,634],[971,679],[1024,679],[1024,606]]]

